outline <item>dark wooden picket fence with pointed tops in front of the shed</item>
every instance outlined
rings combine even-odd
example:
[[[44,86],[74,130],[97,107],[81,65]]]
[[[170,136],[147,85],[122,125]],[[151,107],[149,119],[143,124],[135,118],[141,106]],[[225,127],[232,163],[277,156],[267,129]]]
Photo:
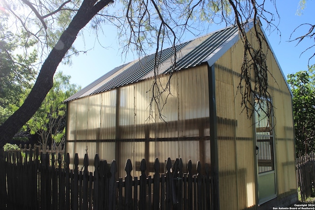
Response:
[[[21,154],[21,152],[19,152]],[[166,161],[165,174],[159,174],[158,158],[154,163],[155,174],[146,175],[146,161],[140,163],[140,177],[131,177],[132,165],[126,161],[126,177],[116,179],[117,163],[108,164],[95,155],[95,171],[89,172],[88,154],[84,157],[84,170],[79,171],[78,155],[74,169],[70,158],[28,152],[21,155],[6,153],[0,160],[0,209],[24,210],[211,210],[212,180],[209,165],[201,174],[201,164],[196,164],[197,175],[183,173],[182,159]],[[19,158],[16,158],[19,157]],[[22,161],[23,160],[23,161]],[[51,164],[49,163],[51,162]]]

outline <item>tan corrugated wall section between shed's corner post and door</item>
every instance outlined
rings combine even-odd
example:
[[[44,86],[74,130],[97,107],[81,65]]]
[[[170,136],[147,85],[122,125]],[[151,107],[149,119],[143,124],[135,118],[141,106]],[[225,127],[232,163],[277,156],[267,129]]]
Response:
[[[221,210],[242,210],[256,202],[252,120],[242,113],[237,94],[243,46],[233,46],[215,64]]]

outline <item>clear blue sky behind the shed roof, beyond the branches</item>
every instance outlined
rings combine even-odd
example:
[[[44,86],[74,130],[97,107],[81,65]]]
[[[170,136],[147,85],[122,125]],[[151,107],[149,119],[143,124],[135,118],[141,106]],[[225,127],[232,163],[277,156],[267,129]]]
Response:
[[[268,30],[266,29],[266,25],[262,25],[262,29],[267,35],[267,39],[285,77],[287,74],[307,70],[308,60],[314,54],[314,49],[311,49],[301,55],[305,49],[314,45],[314,39],[306,39],[298,45],[296,45],[297,41],[289,42],[290,35],[296,27],[305,23],[314,24],[315,0],[307,0],[306,8],[302,11],[302,15],[296,14],[298,5],[299,0],[276,1],[280,20],[276,16],[275,23],[279,23],[278,28],[280,32],[273,29]],[[71,76],[70,82],[72,84],[84,88],[113,68],[138,59],[137,55],[130,54],[127,57],[122,55],[122,49],[118,43],[117,30],[113,26],[106,26],[103,29],[104,34],[98,35],[98,40],[95,39],[95,34],[89,30],[84,30],[84,36],[78,36],[74,46],[77,50],[88,50],[88,52],[82,53],[79,56],[73,56],[70,66],[61,64],[58,67],[59,71],[63,71],[65,75]],[[211,28],[209,30],[201,35],[212,31]],[[217,30],[217,28],[214,27],[214,30]],[[300,28],[300,30],[293,33],[292,37],[298,37],[302,35],[302,31],[305,33],[308,30],[309,27]],[[183,41],[190,39],[191,37],[187,37]],[[311,60],[310,64],[314,63],[315,58]]]

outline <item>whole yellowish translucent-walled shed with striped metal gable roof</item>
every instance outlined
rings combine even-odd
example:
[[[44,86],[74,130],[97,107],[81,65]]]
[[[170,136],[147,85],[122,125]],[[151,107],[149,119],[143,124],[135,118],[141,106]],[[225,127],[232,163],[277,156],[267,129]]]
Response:
[[[248,33],[252,30],[249,23]],[[231,26],[176,46],[176,69],[174,49],[163,50],[158,87],[166,87],[173,75],[167,91],[156,92],[160,98],[151,108],[155,54],[114,68],[65,101],[66,152],[83,158],[88,148],[90,157],[98,153],[100,159],[116,159],[121,176],[127,158],[133,165],[142,158],[153,163],[156,157],[209,163],[221,210],[296,202],[290,89],[269,52],[268,70],[277,83],[270,80],[271,98],[252,100],[276,109],[272,118],[261,110],[248,119],[237,94],[243,49],[237,27]]]

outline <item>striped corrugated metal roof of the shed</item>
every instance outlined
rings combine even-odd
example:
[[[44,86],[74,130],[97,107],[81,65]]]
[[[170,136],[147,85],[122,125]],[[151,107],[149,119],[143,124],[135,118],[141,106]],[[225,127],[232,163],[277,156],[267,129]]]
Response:
[[[249,22],[248,30],[252,27],[252,22]],[[230,26],[179,44],[176,46],[176,69],[185,69],[204,62],[208,62],[209,66],[211,66],[237,41],[238,28]],[[170,73],[172,70],[172,59],[174,58],[172,55],[174,55],[172,47],[160,52],[159,74]],[[154,76],[154,71],[155,53],[114,68],[87,87],[67,98],[64,102],[151,78]]]

